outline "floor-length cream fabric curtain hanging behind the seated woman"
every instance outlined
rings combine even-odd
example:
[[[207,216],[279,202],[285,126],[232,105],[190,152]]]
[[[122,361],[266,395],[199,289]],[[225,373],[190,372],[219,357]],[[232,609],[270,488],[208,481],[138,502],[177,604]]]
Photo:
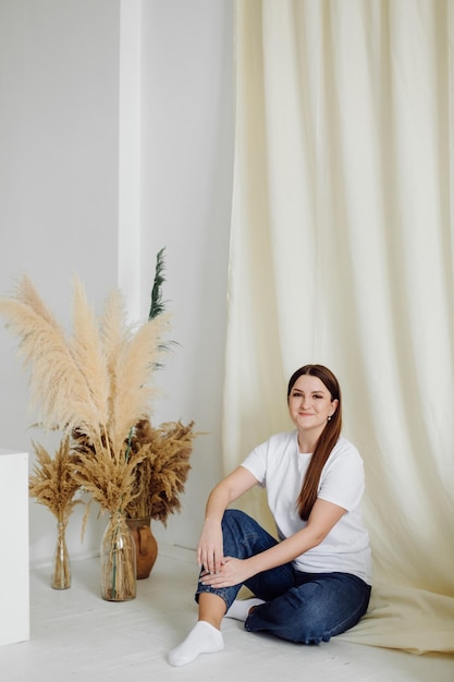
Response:
[[[292,426],[295,368],[331,367],[376,574],[342,636],[454,651],[454,3],[237,0],[235,21],[225,470]]]

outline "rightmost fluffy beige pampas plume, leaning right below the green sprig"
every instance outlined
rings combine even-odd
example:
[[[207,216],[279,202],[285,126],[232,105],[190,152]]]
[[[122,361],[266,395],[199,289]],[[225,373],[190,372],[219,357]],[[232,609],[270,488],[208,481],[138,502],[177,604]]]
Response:
[[[131,427],[150,414],[156,394],[150,379],[164,353],[162,338],[169,319],[168,314],[162,314],[143,324],[123,344],[116,365],[116,395],[109,428],[114,451]]]

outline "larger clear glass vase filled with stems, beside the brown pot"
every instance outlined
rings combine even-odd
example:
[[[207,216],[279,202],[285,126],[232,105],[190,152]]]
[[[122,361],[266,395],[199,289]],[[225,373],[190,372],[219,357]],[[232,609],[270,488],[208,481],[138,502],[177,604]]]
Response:
[[[108,601],[136,596],[136,548],[123,513],[111,514],[101,540],[101,595]]]

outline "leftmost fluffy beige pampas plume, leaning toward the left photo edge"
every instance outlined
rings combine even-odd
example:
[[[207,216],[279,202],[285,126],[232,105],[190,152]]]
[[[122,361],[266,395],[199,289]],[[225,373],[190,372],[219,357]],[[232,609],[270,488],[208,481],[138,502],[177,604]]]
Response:
[[[20,339],[20,353],[30,368],[30,403],[47,428],[71,429],[99,424],[100,412],[94,403],[86,378],[70,353],[61,327],[28,303],[16,297],[0,299],[0,314],[7,327]]]

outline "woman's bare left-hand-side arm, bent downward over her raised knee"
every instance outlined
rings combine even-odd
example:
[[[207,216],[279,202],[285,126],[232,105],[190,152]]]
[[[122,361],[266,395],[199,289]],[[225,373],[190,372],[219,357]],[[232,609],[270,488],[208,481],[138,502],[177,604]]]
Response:
[[[220,571],[224,560],[221,522],[225,509],[255,485],[257,478],[244,466],[238,466],[211,490],[197,549],[198,563],[208,573]]]

